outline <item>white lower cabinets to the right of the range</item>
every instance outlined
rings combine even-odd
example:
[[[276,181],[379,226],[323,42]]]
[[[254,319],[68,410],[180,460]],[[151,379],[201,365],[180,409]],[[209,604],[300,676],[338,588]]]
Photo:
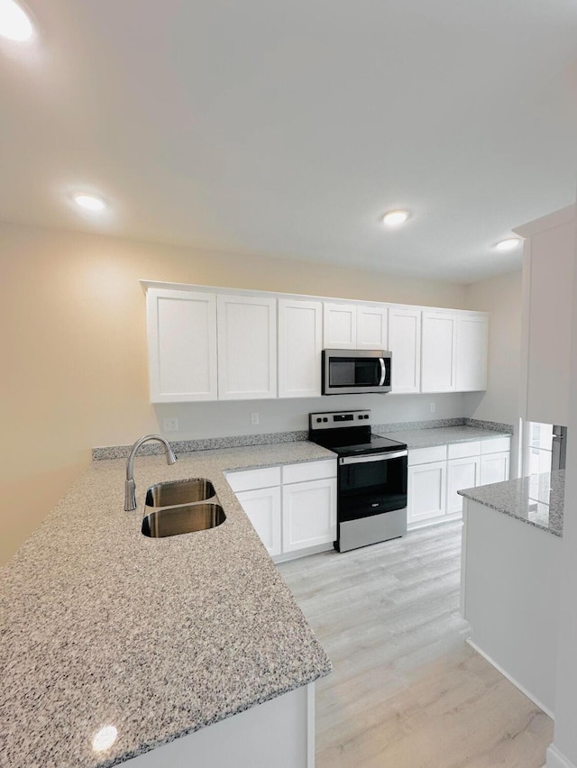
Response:
[[[510,437],[435,445],[408,452],[408,526],[463,514],[458,490],[508,480]]]

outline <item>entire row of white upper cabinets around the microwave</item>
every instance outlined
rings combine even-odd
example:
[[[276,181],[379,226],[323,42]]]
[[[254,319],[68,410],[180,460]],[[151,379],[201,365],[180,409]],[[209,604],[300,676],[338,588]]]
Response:
[[[152,403],[320,397],[323,349],[390,350],[392,392],[487,386],[483,313],[143,284]]]

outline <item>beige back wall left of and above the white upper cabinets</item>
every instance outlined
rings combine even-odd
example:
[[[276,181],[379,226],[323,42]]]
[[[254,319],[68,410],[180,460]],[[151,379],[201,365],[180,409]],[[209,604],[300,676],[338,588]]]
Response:
[[[158,431],[139,279],[430,306],[463,307],[466,299],[463,286],[449,283],[8,224],[0,224],[0,270],[0,562],[87,465],[93,446]],[[402,416],[403,400],[396,402]]]

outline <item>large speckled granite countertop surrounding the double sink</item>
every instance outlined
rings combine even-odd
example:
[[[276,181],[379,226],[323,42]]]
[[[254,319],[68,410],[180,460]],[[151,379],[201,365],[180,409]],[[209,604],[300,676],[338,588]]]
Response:
[[[314,681],[331,663],[224,469],[334,458],[314,443],[93,462],[2,571],[1,763],[112,766]],[[207,477],[226,520],[141,534],[144,490]],[[105,753],[91,741],[114,725]]]

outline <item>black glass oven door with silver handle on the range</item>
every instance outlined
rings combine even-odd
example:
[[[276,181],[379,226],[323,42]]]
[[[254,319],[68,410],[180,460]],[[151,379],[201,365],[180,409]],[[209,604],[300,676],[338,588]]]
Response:
[[[407,450],[339,459],[339,523],[407,507],[407,472]]]

